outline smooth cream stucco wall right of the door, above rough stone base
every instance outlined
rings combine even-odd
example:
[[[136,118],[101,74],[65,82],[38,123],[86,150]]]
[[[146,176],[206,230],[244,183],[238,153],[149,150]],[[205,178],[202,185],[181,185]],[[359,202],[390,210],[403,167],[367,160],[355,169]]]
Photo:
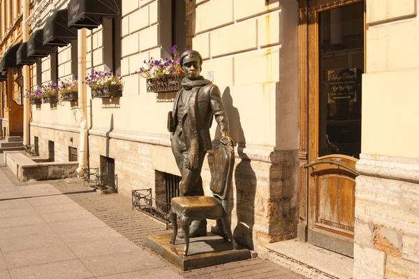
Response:
[[[402,2],[402,3],[400,3]],[[367,75],[362,77],[362,153],[419,157],[417,0],[367,0]]]

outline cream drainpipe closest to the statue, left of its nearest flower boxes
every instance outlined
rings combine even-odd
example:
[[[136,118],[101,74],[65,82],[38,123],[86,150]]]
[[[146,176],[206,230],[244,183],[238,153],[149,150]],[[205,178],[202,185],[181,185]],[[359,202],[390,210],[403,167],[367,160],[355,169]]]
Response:
[[[80,115],[80,140],[78,149],[79,167],[75,171],[78,177],[82,177],[84,169],[87,168],[87,84],[86,77],[86,29],[78,30],[78,113]]]

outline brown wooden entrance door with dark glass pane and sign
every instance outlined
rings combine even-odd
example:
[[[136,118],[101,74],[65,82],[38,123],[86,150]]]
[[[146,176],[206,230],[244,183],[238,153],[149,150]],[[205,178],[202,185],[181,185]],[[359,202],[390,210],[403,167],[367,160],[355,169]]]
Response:
[[[355,163],[360,154],[365,70],[365,3],[306,3],[307,98],[302,98],[306,107],[301,113],[307,113],[307,118],[300,119],[307,130],[302,131],[305,142],[300,142],[300,153],[305,148],[307,156],[300,164],[304,169],[300,183],[307,187],[307,241],[352,257],[358,175]]]

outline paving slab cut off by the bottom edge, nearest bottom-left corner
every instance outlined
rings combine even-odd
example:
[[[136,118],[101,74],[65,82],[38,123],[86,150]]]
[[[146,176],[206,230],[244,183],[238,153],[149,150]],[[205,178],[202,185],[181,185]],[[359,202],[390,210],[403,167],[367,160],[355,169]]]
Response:
[[[10,269],[10,273],[13,279],[85,279],[94,277],[78,259]]]

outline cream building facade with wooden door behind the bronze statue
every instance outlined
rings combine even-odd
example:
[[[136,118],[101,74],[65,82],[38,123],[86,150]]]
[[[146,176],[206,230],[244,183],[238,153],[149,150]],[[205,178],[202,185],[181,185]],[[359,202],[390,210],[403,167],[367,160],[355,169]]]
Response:
[[[180,175],[166,128],[175,92],[147,92],[138,70],[168,58],[172,45],[198,50],[236,142],[235,239],[267,257],[268,243],[297,238],[353,257],[353,278],[418,278],[419,40],[409,35],[418,0],[108,0],[112,11],[100,18],[87,2],[96,1],[27,3],[21,21],[31,34],[59,10],[85,15],[68,20],[77,31],[66,43],[31,63],[29,87],[113,70],[122,96],[94,98],[79,84],[77,101],[31,105],[30,143],[41,157],[117,174],[118,195],[151,188],[164,197],[165,181]],[[2,54],[21,41],[7,38]],[[217,144],[215,125],[211,135]],[[207,195],[211,169],[209,152]]]

